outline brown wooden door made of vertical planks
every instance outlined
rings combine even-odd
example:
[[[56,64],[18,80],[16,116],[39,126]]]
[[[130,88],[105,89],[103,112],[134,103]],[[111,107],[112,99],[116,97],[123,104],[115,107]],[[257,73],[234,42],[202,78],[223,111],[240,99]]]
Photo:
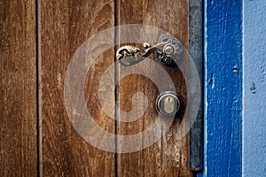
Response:
[[[66,112],[64,97],[66,71],[74,53],[88,38],[109,27],[126,24],[158,27],[180,40],[188,50],[188,0],[1,2],[1,23],[4,24],[1,34],[4,35],[0,36],[11,44],[5,46],[1,43],[0,48],[4,51],[1,75],[8,77],[13,71],[11,67],[20,65],[20,57],[28,58],[13,75],[22,82],[16,82],[17,85],[7,80],[1,82],[1,102],[4,103],[6,97],[12,94],[12,99],[16,100],[12,104],[15,112],[7,109],[9,104],[0,106],[3,110],[1,123],[4,125],[1,131],[6,131],[8,135],[14,134],[16,140],[21,140],[15,142],[18,148],[8,150],[11,140],[7,141],[8,136],[4,133],[1,135],[1,150],[4,150],[1,151],[1,157],[11,158],[12,161],[1,160],[1,169],[5,169],[1,170],[2,176],[12,171],[15,173],[16,169],[18,173],[15,174],[30,176],[192,176],[188,135],[182,140],[176,139],[177,129],[183,119],[182,113],[177,115],[167,133],[153,145],[130,153],[113,153],[99,150],[79,135]],[[6,18],[6,14],[10,15],[10,19]],[[13,19],[16,18],[15,23]],[[9,23],[15,28],[9,28]],[[98,85],[107,68],[116,61],[115,52],[121,45],[115,46],[115,42],[121,41],[120,37],[124,35],[117,28],[113,28],[113,34],[113,47],[102,52],[86,73],[84,97],[87,109],[99,127],[113,135],[134,135],[149,127],[158,115],[155,101],[159,92],[153,81],[143,75],[131,74],[120,78],[125,68],[115,65],[115,80],[121,80],[113,92],[113,100],[118,105],[113,110],[116,120],[110,119],[103,111]],[[154,35],[154,38],[160,39],[159,35]],[[21,47],[24,43],[26,45]],[[139,46],[139,43],[130,44]],[[7,47],[9,50],[5,50]],[[4,65],[8,66],[7,73],[4,73]],[[174,81],[176,92],[182,96],[185,107],[187,88],[183,74],[178,67],[161,66]],[[151,67],[146,72],[160,77],[156,75],[156,68]],[[5,85],[6,82],[11,85]],[[14,89],[8,89],[12,86]],[[144,93],[147,98],[148,106],[144,115],[129,123],[119,121],[121,110],[129,112],[133,109],[132,96],[137,92]],[[24,115],[24,119],[16,117],[19,113]],[[9,117],[13,118],[12,124],[6,123]],[[18,131],[14,132],[16,128]],[[116,139],[113,141],[115,146],[121,146],[115,142]],[[18,155],[12,154],[13,151]],[[16,164],[16,160],[23,165]],[[6,169],[6,163],[12,167]]]

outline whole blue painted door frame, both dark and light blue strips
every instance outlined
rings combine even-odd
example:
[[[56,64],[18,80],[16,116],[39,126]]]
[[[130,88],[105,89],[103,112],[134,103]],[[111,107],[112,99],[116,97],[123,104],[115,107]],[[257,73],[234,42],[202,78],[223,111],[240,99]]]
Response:
[[[266,176],[266,1],[204,1],[204,163]]]

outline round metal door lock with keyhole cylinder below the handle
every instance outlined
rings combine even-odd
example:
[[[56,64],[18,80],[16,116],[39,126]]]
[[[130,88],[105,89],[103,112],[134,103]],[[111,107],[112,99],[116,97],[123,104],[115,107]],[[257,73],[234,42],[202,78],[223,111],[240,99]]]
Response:
[[[175,92],[163,92],[157,97],[156,108],[160,115],[174,118],[180,108],[180,98]]]

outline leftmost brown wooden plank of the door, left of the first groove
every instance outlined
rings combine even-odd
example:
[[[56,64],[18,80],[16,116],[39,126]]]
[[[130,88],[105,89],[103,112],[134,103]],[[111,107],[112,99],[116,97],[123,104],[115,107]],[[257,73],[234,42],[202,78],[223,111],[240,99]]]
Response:
[[[35,1],[0,1],[0,176],[36,176]]]

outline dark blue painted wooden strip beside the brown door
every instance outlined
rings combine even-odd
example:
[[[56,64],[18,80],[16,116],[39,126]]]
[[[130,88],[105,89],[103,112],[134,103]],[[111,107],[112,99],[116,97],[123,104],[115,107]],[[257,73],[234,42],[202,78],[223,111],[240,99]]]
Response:
[[[241,176],[242,1],[204,2],[204,169]]]

